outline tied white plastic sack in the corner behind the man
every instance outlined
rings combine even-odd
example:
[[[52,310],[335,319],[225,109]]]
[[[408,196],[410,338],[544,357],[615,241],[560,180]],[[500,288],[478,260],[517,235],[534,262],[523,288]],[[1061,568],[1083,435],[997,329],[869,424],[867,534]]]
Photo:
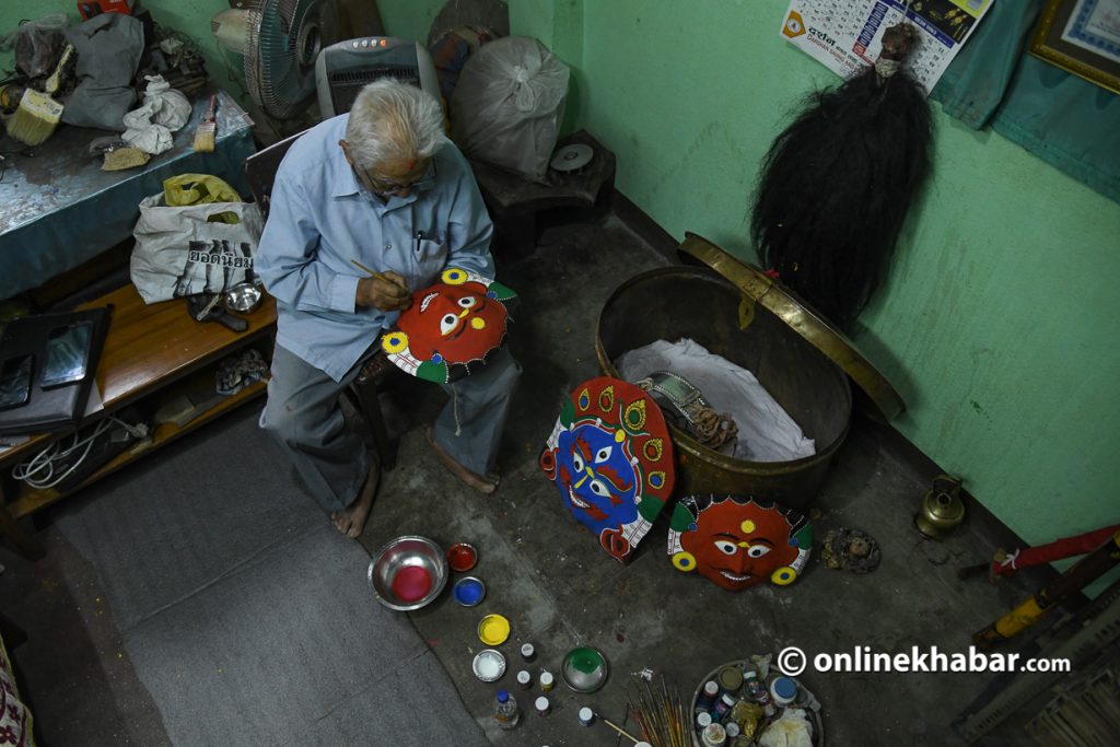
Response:
[[[508,36],[479,47],[463,67],[451,99],[456,142],[472,158],[544,181],[569,74],[531,37]]]

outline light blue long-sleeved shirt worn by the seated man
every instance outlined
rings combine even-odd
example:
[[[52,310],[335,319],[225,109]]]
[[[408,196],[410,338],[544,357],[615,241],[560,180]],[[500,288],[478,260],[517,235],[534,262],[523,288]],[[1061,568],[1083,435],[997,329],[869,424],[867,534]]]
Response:
[[[297,140],[277,171],[254,270],[277,299],[277,344],[335,381],[399,316],[357,307],[354,260],[416,292],[448,265],[494,277],[494,225],[463,153],[449,141],[408,197],[362,187],[338,141],[343,114]]]

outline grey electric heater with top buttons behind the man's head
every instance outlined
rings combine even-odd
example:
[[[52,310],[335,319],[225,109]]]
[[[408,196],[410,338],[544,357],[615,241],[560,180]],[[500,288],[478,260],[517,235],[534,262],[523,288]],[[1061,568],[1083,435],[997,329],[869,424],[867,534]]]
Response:
[[[323,49],[315,65],[320,114],[326,119],[348,112],[362,86],[385,77],[411,83],[439,101],[436,66],[419,41],[347,39]]]

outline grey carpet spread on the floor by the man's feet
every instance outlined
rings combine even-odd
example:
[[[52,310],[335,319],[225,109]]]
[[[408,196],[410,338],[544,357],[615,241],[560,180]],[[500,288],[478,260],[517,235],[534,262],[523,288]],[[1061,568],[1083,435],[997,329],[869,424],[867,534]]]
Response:
[[[58,519],[183,745],[486,745],[368,555],[292,483],[252,408]],[[422,703],[423,707],[418,707]]]

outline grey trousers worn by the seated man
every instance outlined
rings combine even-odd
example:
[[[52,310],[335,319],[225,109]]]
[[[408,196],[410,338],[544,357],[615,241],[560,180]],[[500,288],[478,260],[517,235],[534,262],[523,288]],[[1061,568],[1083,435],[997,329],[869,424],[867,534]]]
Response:
[[[370,469],[365,443],[346,428],[338,403],[367,357],[336,382],[279,345],[272,354],[261,428],[287,452],[328,513],[342,511],[357,498]],[[504,349],[478,373],[444,385],[450,400],[433,423],[436,442],[467,469],[479,475],[493,473],[520,377],[521,365]]]

